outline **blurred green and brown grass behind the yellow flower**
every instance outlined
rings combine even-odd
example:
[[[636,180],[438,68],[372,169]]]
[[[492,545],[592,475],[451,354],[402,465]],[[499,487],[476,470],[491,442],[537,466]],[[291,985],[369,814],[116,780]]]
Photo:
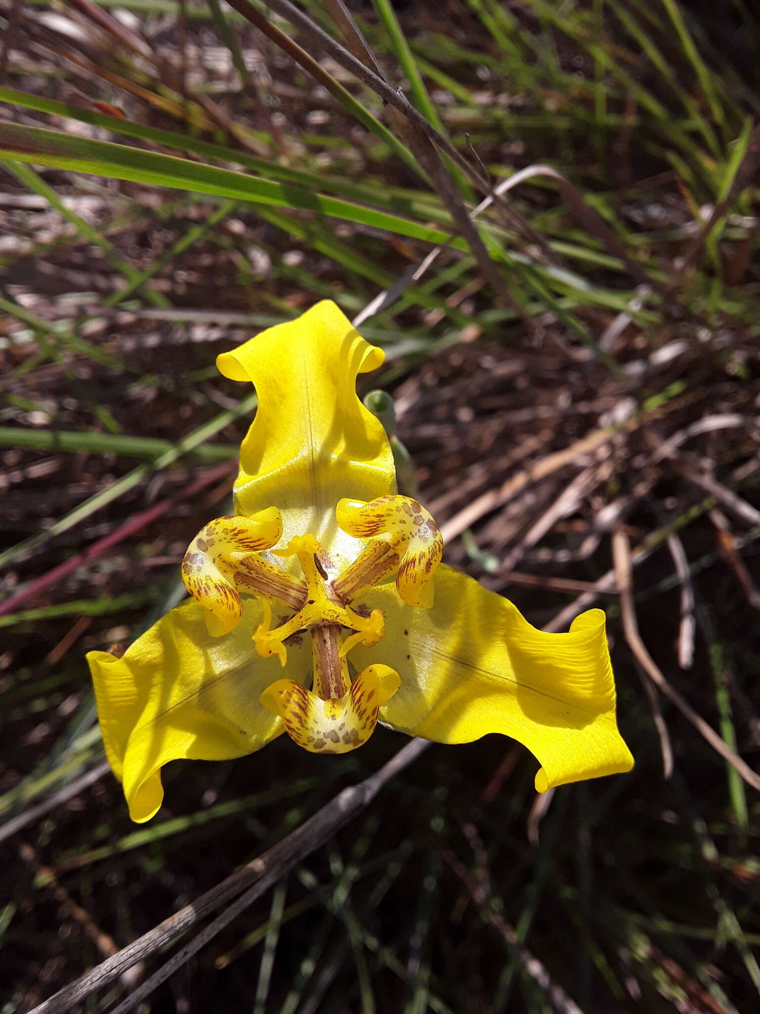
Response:
[[[83,658],[179,600],[227,510],[255,401],[216,355],[327,297],[386,350],[363,393],[393,394],[448,562],[536,626],[606,609],[636,768],[537,798],[509,740],[433,746],[141,1010],[748,1014],[760,11],[348,7],[359,34],[335,0],[306,24],[283,0],[0,0],[0,1010],[402,744],[177,763],[138,828]]]

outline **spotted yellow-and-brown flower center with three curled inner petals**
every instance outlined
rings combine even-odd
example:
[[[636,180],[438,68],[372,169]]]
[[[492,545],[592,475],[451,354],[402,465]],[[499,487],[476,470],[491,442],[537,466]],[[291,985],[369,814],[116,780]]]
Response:
[[[256,595],[262,603],[263,617],[252,635],[262,658],[277,655],[285,666],[285,642],[309,631],[312,690],[294,679],[279,679],[267,687],[260,702],[283,719],[299,745],[322,753],[343,753],[365,742],[374,731],[379,709],[400,686],[398,674],[387,665],[369,665],[352,681],[348,653],[360,642],[366,648],[376,645],[384,635],[385,620],[380,609],[367,615],[350,602],[395,573],[404,602],[432,605],[432,578],[442,555],[438,526],[416,500],[400,496],[371,503],[341,500],[335,514],[346,532],[369,541],[332,580],[324,566],[324,550],[314,535],[297,535],[284,549],[273,549],[282,536],[282,520],[274,507],[249,518],[210,522],[193,540],[182,563],[185,586],[207,609],[212,636],[222,636],[240,622],[241,592]],[[265,550],[273,556],[297,557],[303,580],[263,560],[259,554]],[[295,609],[274,628],[273,601]]]

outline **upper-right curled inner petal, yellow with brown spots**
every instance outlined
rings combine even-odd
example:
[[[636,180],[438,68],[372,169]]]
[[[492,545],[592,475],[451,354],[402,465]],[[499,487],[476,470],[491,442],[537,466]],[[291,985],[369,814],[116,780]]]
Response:
[[[419,500],[401,496],[369,503],[341,500],[335,517],[348,534],[373,540],[335,580],[338,594],[353,598],[395,571],[402,601],[424,608],[433,605],[433,575],[443,556],[443,538]]]

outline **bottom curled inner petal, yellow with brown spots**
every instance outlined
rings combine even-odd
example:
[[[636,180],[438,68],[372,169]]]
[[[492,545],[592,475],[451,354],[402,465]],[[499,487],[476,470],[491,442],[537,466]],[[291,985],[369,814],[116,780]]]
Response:
[[[362,669],[341,698],[323,701],[294,679],[278,679],[260,697],[279,715],[288,735],[311,753],[347,753],[366,743],[375,730],[379,709],[401,680],[387,665]]]

